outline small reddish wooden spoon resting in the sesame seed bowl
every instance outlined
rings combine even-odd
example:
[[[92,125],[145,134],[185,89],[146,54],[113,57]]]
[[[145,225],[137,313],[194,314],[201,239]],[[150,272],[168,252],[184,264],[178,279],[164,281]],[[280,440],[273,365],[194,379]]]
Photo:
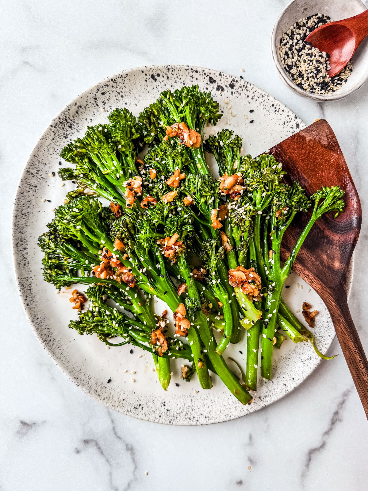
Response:
[[[330,78],[337,75],[368,34],[368,10],[361,14],[317,27],[305,42],[330,55]]]

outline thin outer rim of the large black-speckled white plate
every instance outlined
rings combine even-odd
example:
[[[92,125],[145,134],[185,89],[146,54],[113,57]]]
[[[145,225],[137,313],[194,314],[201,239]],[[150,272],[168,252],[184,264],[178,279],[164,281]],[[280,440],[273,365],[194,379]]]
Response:
[[[262,92],[263,94],[269,96],[270,98],[274,99],[278,104],[280,104],[283,108],[285,109],[288,109],[288,111],[292,112],[295,116],[297,116],[294,111],[292,111],[292,109],[290,109],[288,106],[286,106],[283,102],[279,101],[278,99],[276,99],[273,95],[269,94],[267,91],[263,90],[262,88],[260,88],[258,85],[255,85],[254,83],[252,82],[248,82],[244,79],[240,79],[239,77],[237,76],[234,76],[234,75],[231,75],[231,74],[228,74],[226,72],[223,72],[222,70],[216,70],[216,69],[213,69],[213,68],[206,68],[206,67],[199,67],[199,66],[195,66],[195,65],[187,65],[187,64],[161,64],[161,65],[142,65],[142,66],[137,66],[137,67],[131,67],[131,68],[128,68],[126,70],[122,70],[121,72],[118,72],[118,73],[115,73],[115,74],[112,74],[112,75],[109,75],[107,77],[105,77],[104,79],[92,84],[91,86],[89,86],[87,89],[85,89],[84,91],[80,92],[79,95],[77,95],[72,101],[70,101],[63,109],[61,109],[54,117],[53,119],[50,121],[50,123],[47,125],[46,129],[43,131],[43,133],[41,134],[41,136],[37,139],[37,142],[35,143],[35,145],[33,146],[27,160],[26,160],[26,163],[23,167],[23,170],[20,174],[20,177],[19,177],[19,180],[18,180],[18,185],[17,185],[17,189],[16,189],[16,193],[15,193],[15,198],[14,198],[14,204],[13,204],[13,213],[12,213],[12,220],[11,220],[11,247],[12,247],[12,256],[13,256],[13,266],[14,266],[14,273],[15,273],[15,278],[16,278],[16,284],[17,284],[17,288],[18,288],[18,294],[20,296],[20,299],[21,299],[21,302],[22,302],[22,306],[23,306],[23,309],[26,313],[26,317],[27,317],[27,320],[34,332],[34,334],[36,335],[37,339],[40,341],[40,344],[42,345],[42,347],[44,348],[44,350],[46,351],[46,353],[51,357],[51,359],[53,360],[53,362],[57,365],[57,367],[66,375],[66,377],[68,377],[68,379],[70,381],[72,381],[74,384],[76,384],[85,394],[87,394],[88,396],[92,397],[94,400],[98,401],[99,403],[102,403],[104,404],[105,407],[109,408],[109,409],[114,409],[114,410],[117,410],[118,412],[121,412],[122,414],[125,414],[125,415],[128,415],[128,416],[131,416],[131,417],[134,417],[136,419],[140,419],[140,420],[143,420],[143,421],[150,421],[150,422],[157,422],[159,424],[168,424],[168,425],[175,425],[175,426],[198,426],[198,425],[204,425],[204,424],[216,424],[216,423],[221,423],[221,422],[225,422],[225,421],[231,421],[231,420],[234,420],[234,419],[237,419],[239,417],[242,417],[242,416],[246,416],[248,414],[251,414],[252,412],[256,412],[257,410],[260,410],[260,409],[264,409],[265,407],[267,406],[270,406],[272,405],[273,403],[283,399],[286,395],[288,395],[290,392],[292,392],[296,387],[298,387],[302,382],[305,382],[308,377],[310,375],[312,375],[312,373],[315,371],[315,369],[319,366],[319,363],[321,362],[321,358],[318,358],[316,361],[316,365],[315,365],[315,368],[304,378],[302,379],[300,382],[298,382],[294,387],[292,387],[286,394],[280,394],[276,399],[274,399],[272,402],[266,404],[264,407],[262,408],[259,408],[259,409],[256,409],[255,411],[250,411],[246,414],[238,414],[238,415],[228,415],[230,417],[220,417],[217,421],[210,421],[210,422],[207,422],[207,421],[203,421],[203,422],[200,422],[200,423],[197,423],[197,422],[189,422],[188,424],[182,424],[182,423],[176,423],[175,421],[174,422],[163,422],[163,421],[153,421],[153,420],[150,420],[150,419],[147,419],[143,416],[140,416],[139,414],[129,414],[129,413],[126,413],[123,408],[121,407],[118,407],[116,404],[114,403],[111,403],[109,401],[105,401],[104,398],[102,396],[100,396],[99,394],[96,394],[96,393],[93,393],[91,392],[90,390],[88,390],[88,388],[81,384],[80,381],[77,380],[77,378],[72,374],[70,373],[69,371],[67,371],[61,364],[59,364],[58,362],[58,359],[56,357],[56,355],[53,353],[53,351],[44,343],[42,342],[42,338],[41,338],[41,334],[40,332],[38,331],[38,329],[36,328],[36,325],[34,324],[33,320],[32,320],[32,313],[30,311],[30,307],[26,305],[26,302],[25,302],[25,299],[24,299],[24,296],[23,296],[23,293],[24,293],[24,289],[23,289],[23,286],[21,285],[20,283],[20,275],[19,275],[19,262],[16,261],[16,258],[17,258],[17,250],[15,248],[15,239],[16,239],[16,228],[15,228],[15,215],[16,215],[16,212],[17,212],[17,197],[18,197],[18,193],[21,189],[21,183],[22,181],[24,180],[24,177],[25,177],[25,174],[26,174],[26,167],[28,165],[28,163],[31,161],[31,159],[33,158],[34,154],[35,154],[35,151],[39,145],[39,143],[42,141],[42,139],[44,138],[45,134],[48,132],[50,126],[57,120],[57,118],[65,111],[65,109],[67,109],[68,107],[71,107],[76,101],[79,100],[79,98],[81,96],[83,96],[84,94],[90,92],[91,90],[93,90],[95,87],[98,87],[101,83],[105,82],[105,81],[108,81],[109,79],[111,78],[116,78],[116,77],[119,77],[120,75],[122,74],[127,74],[127,73],[132,73],[132,72],[135,72],[137,70],[142,70],[142,69],[153,69],[153,70],[162,70],[164,68],[170,68],[170,69],[182,69],[182,68],[189,68],[189,69],[194,69],[194,70],[206,70],[206,71],[209,71],[211,73],[217,73],[217,74],[221,74],[221,75],[224,75],[224,76],[227,76],[229,78],[234,78],[234,79],[238,79],[240,80],[241,82],[245,82],[245,83],[248,83],[249,85],[253,86],[253,87],[256,87],[260,92]],[[212,91],[211,91],[212,92]],[[299,117],[297,116],[297,119],[295,119],[296,122],[298,123],[301,123],[302,125],[305,125],[304,121]],[[297,132],[296,132],[297,133]],[[352,268],[352,265],[354,264],[354,252],[353,252],[353,255],[352,255],[352,260],[351,260],[351,265],[350,265],[350,268]],[[348,296],[350,294],[350,289],[351,289],[351,283],[352,283],[352,273],[351,273],[351,280],[350,280],[350,283],[349,283],[349,286],[348,286]],[[335,339],[336,337],[336,334],[334,336],[334,338],[331,340],[331,343],[328,347],[328,349],[330,348],[333,340]]]

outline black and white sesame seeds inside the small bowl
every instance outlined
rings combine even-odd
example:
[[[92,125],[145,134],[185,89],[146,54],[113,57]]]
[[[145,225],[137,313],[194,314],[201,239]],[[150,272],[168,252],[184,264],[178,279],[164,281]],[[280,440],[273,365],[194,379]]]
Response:
[[[330,79],[330,55],[305,42],[312,31],[329,22],[333,21],[324,14],[310,15],[295,22],[280,39],[279,53],[286,72],[295,85],[307,92],[332,94],[341,89],[353,70],[349,61],[340,73]]]

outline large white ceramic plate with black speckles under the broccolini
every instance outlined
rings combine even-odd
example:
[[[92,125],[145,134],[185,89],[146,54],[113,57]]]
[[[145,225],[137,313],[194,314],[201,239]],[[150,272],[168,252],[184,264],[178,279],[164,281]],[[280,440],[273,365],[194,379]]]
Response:
[[[202,90],[210,90],[220,103],[224,116],[216,130],[232,128],[243,137],[246,153],[258,155],[305,126],[290,109],[263,90],[215,70],[164,65],[122,72],[77,97],[41,136],[20,180],[14,209],[17,227],[13,231],[16,274],[26,314],[55,363],[82,390],[110,408],[147,421],[183,425],[226,421],[256,411],[290,392],[308,377],[320,359],[310,344],[286,341],[280,351],[275,350],[273,380],[259,381],[254,402],[249,406],[242,406],[215,375],[213,387],[207,391],[201,389],[196,378],[184,382],[179,375],[179,360],[172,362],[174,375],[164,392],[152,371],[151,355],[138,348],[130,353],[130,346],[106,349],[97,337],[80,336],[68,328],[69,320],[76,317],[69,302],[70,291],[56,294],[54,287],[43,281],[42,254],[36,243],[53,218],[53,209],[74,186],[66,183],[61,187],[61,180],[52,177],[52,172],[57,173],[62,147],[81,136],[87,124],[107,122],[107,113],[116,107],[126,106],[137,115],[162,90],[193,83],[198,83]],[[294,312],[300,312],[305,300],[319,311],[315,337],[319,349],[326,352],[335,331],[322,300],[295,274],[287,284],[290,288],[285,290],[284,298]],[[159,303],[156,306],[161,312],[162,306]],[[241,354],[246,352],[245,342],[243,336],[240,344],[231,345],[225,359],[232,356],[245,366]],[[232,361],[229,364],[237,372],[235,364]],[[132,377],[135,382],[131,382]]]

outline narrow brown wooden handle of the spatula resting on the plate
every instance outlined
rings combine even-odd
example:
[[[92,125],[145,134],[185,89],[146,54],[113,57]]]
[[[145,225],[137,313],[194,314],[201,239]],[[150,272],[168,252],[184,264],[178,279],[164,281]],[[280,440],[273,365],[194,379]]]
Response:
[[[326,299],[325,299],[326,302]],[[368,361],[345,298],[332,300],[327,308],[368,419]]]

